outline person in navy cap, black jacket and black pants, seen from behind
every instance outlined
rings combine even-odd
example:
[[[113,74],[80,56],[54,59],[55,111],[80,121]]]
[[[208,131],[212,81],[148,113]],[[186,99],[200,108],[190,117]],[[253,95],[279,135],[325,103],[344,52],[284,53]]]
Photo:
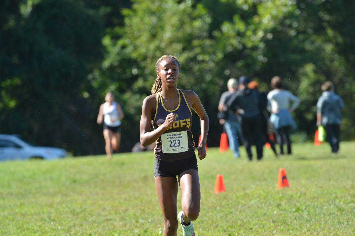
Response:
[[[241,115],[244,146],[249,160],[252,160],[252,143],[256,146],[257,159],[261,160],[263,157],[260,119],[261,102],[258,91],[248,88],[249,82],[250,79],[247,76],[239,78],[239,91],[233,93],[228,100],[227,106],[236,109]]]

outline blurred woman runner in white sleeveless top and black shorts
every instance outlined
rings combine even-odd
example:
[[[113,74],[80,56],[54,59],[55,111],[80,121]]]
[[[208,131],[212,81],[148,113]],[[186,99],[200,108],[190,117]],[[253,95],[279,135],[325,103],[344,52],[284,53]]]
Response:
[[[100,105],[97,123],[103,123],[105,150],[108,159],[112,159],[113,149],[118,150],[121,143],[121,120],[124,118],[120,104],[115,102],[113,93],[108,92],[105,103]]]

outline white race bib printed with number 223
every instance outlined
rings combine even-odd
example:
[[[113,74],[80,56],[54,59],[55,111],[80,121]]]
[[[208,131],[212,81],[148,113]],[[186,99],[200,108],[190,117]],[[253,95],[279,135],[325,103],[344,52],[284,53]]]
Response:
[[[189,150],[187,131],[162,134],[163,153],[178,153]]]

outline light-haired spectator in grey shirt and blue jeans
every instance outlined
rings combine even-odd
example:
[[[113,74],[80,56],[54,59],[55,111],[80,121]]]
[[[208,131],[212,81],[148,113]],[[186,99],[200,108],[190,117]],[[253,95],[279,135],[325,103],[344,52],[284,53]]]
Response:
[[[238,89],[238,81],[234,78],[228,80],[228,91],[222,93],[218,104],[218,119],[220,125],[224,125],[225,131],[229,139],[229,145],[233,151],[234,158],[239,157],[239,142],[238,136],[240,134],[240,123],[235,110],[228,109],[226,103],[234,92]]]

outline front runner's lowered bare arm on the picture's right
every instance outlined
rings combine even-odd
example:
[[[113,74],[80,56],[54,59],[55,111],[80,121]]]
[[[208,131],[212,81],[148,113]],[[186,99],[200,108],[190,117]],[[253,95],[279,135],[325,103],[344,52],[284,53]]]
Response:
[[[197,94],[191,90],[184,91],[186,99],[191,104],[191,108],[197,113],[201,120],[201,141],[198,144],[197,151],[198,157],[202,160],[206,157],[206,142],[207,142],[207,134],[209,128],[209,119],[204,109],[203,105],[201,104],[200,98]]]

